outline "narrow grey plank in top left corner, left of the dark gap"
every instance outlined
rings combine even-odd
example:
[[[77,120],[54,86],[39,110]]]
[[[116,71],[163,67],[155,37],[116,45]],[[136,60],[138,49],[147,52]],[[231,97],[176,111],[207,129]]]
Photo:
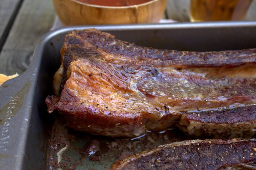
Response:
[[[23,0],[0,0],[0,51]]]

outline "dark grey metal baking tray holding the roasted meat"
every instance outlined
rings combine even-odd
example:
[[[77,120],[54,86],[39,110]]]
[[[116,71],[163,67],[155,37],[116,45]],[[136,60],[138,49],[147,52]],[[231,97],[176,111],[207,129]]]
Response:
[[[47,113],[44,101],[52,94],[64,35],[85,28],[154,48],[219,51],[256,47],[256,22],[78,26],[49,32],[38,42],[28,70],[0,87],[0,169],[108,169],[116,159],[134,152],[189,139],[179,130],[148,132],[133,140],[93,136],[70,130],[57,113]],[[92,145],[99,151],[90,150]]]

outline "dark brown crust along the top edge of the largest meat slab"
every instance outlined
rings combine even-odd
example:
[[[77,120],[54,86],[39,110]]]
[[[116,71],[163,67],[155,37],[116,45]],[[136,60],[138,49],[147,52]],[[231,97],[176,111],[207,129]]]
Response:
[[[96,29],[74,30],[67,34],[61,49],[61,62],[64,63],[62,85],[67,80],[67,68],[70,63],[78,59],[101,57],[102,54],[97,49],[111,52],[116,56],[125,56],[126,59],[122,60],[122,65],[133,65],[134,68],[142,64],[145,66],[172,65],[174,68],[220,67],[223,65],[232,67],[256,62],[256,48],[211,52],[160,50],[117,40],[113,35]],[[138,65],[139,60],[140,65]]]

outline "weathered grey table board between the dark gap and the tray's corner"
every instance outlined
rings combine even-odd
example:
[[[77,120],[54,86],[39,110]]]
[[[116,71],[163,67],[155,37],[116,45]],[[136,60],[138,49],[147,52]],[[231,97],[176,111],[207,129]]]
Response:
[[[52,27],[54,19],[52,0],[24,0],[0,53],[0,73],[25,71],[36,43]]]

